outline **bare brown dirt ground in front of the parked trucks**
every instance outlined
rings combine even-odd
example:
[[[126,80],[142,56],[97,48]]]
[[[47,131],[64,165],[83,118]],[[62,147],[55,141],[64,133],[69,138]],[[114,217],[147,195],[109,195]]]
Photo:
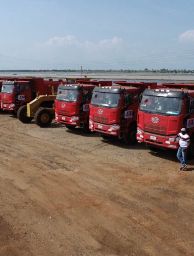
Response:
[[[194,161],[0,114],[0,255],[194,255]]]

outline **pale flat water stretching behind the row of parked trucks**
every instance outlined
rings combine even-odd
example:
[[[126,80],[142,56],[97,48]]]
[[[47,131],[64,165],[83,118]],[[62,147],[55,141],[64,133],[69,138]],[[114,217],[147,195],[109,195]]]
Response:
[[[82,77],[90,77],[97,80],[123,80],[130,82],[158,82],[158,83],[194,83],[194,74],[155,74],[155,73],[129,73],[129,72],[82,72]],[[55,72],[55,71],[0,71],[0,77],[81,77],[79,71],[76,72]]]

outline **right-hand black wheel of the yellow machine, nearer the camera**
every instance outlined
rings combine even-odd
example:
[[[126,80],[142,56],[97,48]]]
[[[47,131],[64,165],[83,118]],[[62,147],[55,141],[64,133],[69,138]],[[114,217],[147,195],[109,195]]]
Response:
[[[41,107],[38,109],[34,115],[34,121],[36,125],[40,127],[46,127],[51,125],[52,122],[52,113],[49,109]]]

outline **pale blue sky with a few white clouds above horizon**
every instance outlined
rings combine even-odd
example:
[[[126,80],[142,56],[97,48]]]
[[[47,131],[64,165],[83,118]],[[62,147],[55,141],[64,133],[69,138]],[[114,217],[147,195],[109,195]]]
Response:
[[[0,70],[194,70],[193,0],[0,0]]]

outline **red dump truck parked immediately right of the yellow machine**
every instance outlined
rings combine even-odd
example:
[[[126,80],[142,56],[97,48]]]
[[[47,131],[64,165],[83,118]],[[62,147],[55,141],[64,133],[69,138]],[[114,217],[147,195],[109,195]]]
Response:
[[[77,84],[60,84],[55,100],[55,120],[68,129],[76,126],[89,131],[89,104],[91,93],[100,84],[112,86],[112,81],[82,81]]]

